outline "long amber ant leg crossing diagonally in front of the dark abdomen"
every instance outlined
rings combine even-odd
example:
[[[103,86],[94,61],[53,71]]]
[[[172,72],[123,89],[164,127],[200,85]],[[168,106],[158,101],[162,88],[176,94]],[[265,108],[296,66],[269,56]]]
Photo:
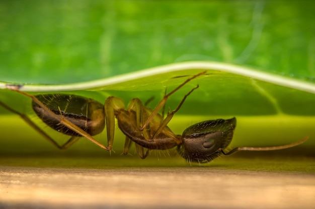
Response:
[[[37,103],[41,108],[43,108],[43,110],[47,113],[50,114],[51,117],[55,118],[56,120],[60,121],[60,124],[66,126],[67,128],[71,129],[72,131],[82,135],[83,137],[87,138],[88,140],[90,140],[91,142],[95,143],[96,145],[98,145],[99,147],[109,150],[106,146],[104,146],[101,142],[99,142],[98,140],[96,140],[95,138],[93,138],[93,136],[91,136],[90,134],[88,134],[86,131],[84,131],[83,129],[81,129],[80,127],[74,125],[73,123],[71,123],[70,121],[66,120],[62,114],[61,115],[56,115],[55,113],[53,113],[49,108],[47,108],[41,101],[39,101],[34,95],[28,94],[26,92],[23,91],[19,91],[18,89],[12,87],[10,88],[12,91],[16,91],[20,94],[24,94],[27,97],[30,97],[35,103]],[[33,123],[33,122],[32,122]],[[33,123],[34,124],[34,123]],[[31,125],[31,124],[30,124]],[[32,125],[31,125],[32,126]],[[40,133],[43,131],[40,131],[40,128],[35,128],[37,129]],[[43,132],[44,133],[44,132]],[[41,133],[42,134],[42,133]],[[47,134],[42,134],[42,135],[47,135]],[[48,136],[49,137],[49,136]],[[45,136],[45,138],[47,138],[47,136]],[[49,137],[50,138],[50,137]],[[48,139],[48,138],[47,138]],[[51,138],[50,138],[51,139]],[[48,139],[49,141],[51,141],[50,139]],[[52,142],[54,143],[54,142]],[[59,145],[57,146],[58,148],[60,147]]]

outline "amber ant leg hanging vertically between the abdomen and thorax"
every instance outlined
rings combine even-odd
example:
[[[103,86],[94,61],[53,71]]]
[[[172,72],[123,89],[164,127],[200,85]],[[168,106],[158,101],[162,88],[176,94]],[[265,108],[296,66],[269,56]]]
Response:
[[[104,104],[108,149],[111,150],[115,134],[115,111],[125,109],[124,101],[118,97],[108,97]]]

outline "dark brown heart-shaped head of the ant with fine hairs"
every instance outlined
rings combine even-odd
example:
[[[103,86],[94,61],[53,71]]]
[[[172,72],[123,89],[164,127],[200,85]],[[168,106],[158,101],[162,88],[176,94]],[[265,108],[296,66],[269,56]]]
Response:
[[[218,157],[232,140],[236,118],[199,122],[188,127],[178,147],[182,157],[191,162],[208,162]]]

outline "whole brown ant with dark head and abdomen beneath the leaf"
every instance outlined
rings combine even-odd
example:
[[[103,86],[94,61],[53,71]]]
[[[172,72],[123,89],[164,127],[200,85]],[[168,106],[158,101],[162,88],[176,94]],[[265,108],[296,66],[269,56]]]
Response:
[[[31,95],[20,91],[19,85],[7,85],[7,88],[24,94],[32,99],[32,108],[37,116],[48,126],[60,133],[70,135],[70,139],[59,145],[47,135],[29,117],[0,101],[0,105],[7,110],[18,114],[21,118],[38,131],[44,138],[59,149],[66,149],[81,137],[85,137],[103,149],[112,150],[115,118],[119,129],[126,136],[123,153],[135,142],[140,158],[146,158],[152,149],[171,149],[177,147],[179,154],[190,162],[204,163],[211,161],[219,155],[230,155],[240,150],[277,150],[296,146],[307,140],[307,137],[282,146],[274,147],[236,147],[229,152],[223,150],[230,144],[236,126],[236,118],[227,120],[216,119],[202,121],[188,127],[182,135],[175,134],[167,125],[174,114],[179,111],[186,98],[199,86],[191,89],[173,111],[168,111],[164,118],[159,112],[164,108],[169,97],[196,77],[205,75],[198,73],[188,78],[170,93],[165,93],[163,99],[152,110],[142,104],[140,99],[132,99],[127,109],[124,101],[118,97],[108,97],[105,104],[72,94],[39,94]],[[105,124],[106,123],[106,124]],[[93,138],[101,133],[106,125],[108,146]],[[145,150],[146,149],[146,150]]]

